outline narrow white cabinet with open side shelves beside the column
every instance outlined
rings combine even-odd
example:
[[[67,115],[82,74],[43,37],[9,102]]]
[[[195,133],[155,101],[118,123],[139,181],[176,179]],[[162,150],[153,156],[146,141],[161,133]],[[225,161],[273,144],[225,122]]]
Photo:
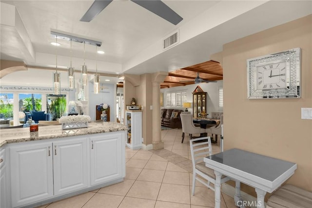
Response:
[[[126,145],[132,149],[142,147],[142,112],[126,111],[126,125],[128,126]]]

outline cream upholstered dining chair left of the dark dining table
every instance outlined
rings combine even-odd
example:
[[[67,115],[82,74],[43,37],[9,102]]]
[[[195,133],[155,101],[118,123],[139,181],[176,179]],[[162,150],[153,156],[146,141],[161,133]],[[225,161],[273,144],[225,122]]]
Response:
[[[194,125],[193,115],[191,113],[186,114],[186,112],[180,114],[181,123],[182,123],[182,142],[184,141],[185,133],[190,134],[190,140],[192,139],[193,134],[205,133],[204,128],[200,128]]]

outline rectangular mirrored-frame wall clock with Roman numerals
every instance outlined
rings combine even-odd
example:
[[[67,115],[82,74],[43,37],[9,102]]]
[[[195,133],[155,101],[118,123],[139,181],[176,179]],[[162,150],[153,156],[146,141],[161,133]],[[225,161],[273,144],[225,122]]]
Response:
[[[247,98],[300,98],[300,69],[300,48],[248,59]]]

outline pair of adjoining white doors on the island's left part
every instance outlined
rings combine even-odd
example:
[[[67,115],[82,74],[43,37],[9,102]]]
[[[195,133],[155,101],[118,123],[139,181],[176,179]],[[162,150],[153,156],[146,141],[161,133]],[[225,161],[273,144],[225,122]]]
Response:
[[[88,187],[87,140],[10,148],[12,207]]]

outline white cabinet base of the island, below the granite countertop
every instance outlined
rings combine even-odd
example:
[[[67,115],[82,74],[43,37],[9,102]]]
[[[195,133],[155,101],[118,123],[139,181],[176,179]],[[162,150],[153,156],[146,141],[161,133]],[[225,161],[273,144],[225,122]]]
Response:
[[[1,167],[1,208],[31,205],[122,180],[124,141],[125,131],[119,131],[10,144],[5,150],[10,152],[11,205],[3,195],[10,189],[2,186],[8,179]]]

